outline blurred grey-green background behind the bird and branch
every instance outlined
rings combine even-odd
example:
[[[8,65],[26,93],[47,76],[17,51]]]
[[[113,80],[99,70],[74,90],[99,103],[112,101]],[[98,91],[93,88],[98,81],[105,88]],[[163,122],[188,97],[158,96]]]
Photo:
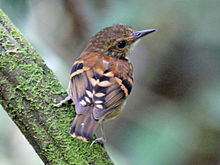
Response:
[[[104,125],[106,148],[117,165],[220,164],[219,0],[0,0],[0,7],[64,88],[100,29],[157,29],[129,56],[135,85],[124,112]],[[0,164],[43,164],[4,110]]]

